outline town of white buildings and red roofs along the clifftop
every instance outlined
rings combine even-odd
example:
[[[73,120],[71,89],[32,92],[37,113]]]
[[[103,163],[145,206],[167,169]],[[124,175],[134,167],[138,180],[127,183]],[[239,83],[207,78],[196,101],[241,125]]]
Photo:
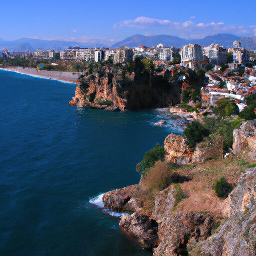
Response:
[[[69,47],[63,51],[41,50],[25,52],[0,52],[1,58],[22,58],[52,60],[51,65],[67,62],[100,62],[111,60],[113,64],[132,62],[136,57],[152,59],[160,70],[158,75],[164,75],[168,70],[174,72],[186,69],[206,68],[205,87],[201,88],[202,103],[215,102],[221,97],[232,97],[236,100],[239,111],[246,107],[244,97],[256,92],[256,51],[244,49],[239,41],[233,42],[233,48],[224,48],[212,43],[202,47],[199,44],[188,44],[182,48],[165,47],[159,43],[151,48],[138,47],[80,48]],[[178,77],[186,86],[185,75]],[[184,110],[184,109],[183,109]]]

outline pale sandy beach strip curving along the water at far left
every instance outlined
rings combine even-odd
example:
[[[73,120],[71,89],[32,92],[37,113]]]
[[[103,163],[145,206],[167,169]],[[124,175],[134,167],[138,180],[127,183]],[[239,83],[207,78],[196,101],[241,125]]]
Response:
[[[32,67],[20,67],[20,66],[8,66],[5,68],[0,67],[0,70],[15,72],[19,74],[26,74],[36,78],[57,80],[64,83],[77,83],[79,77],[78,74],[73,74],[72,72],[60,72],[60,71],[47,71],[47,70],[38,70]]]

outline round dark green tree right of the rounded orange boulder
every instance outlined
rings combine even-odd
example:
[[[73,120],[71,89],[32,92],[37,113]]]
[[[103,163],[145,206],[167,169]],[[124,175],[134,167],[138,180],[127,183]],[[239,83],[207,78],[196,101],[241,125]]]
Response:
[[[186,138],[190,149],[194,149],[196,144],[209,135],[209,130],[204,128],[200,121],[195,120],[184,130],[183,136]]]

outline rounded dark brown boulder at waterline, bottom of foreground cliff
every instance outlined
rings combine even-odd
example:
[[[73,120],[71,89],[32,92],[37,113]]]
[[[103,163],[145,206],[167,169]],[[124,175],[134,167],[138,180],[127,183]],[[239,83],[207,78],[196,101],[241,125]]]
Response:
[[[135,212],[123,216],[119,227],[123,234],[143,248],[149,249],[158,245],[158,224],[147,215]]]

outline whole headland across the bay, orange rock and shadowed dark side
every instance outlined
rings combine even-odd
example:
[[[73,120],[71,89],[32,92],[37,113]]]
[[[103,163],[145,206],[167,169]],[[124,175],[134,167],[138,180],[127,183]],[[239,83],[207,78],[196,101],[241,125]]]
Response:
[[[163,76],[149,76],[145,70],[139,78],[135,73],[111,64],[95,68],[93,72],[86,68],[69,105],[123,111],[180,102],[178,82],[168,82]]]

